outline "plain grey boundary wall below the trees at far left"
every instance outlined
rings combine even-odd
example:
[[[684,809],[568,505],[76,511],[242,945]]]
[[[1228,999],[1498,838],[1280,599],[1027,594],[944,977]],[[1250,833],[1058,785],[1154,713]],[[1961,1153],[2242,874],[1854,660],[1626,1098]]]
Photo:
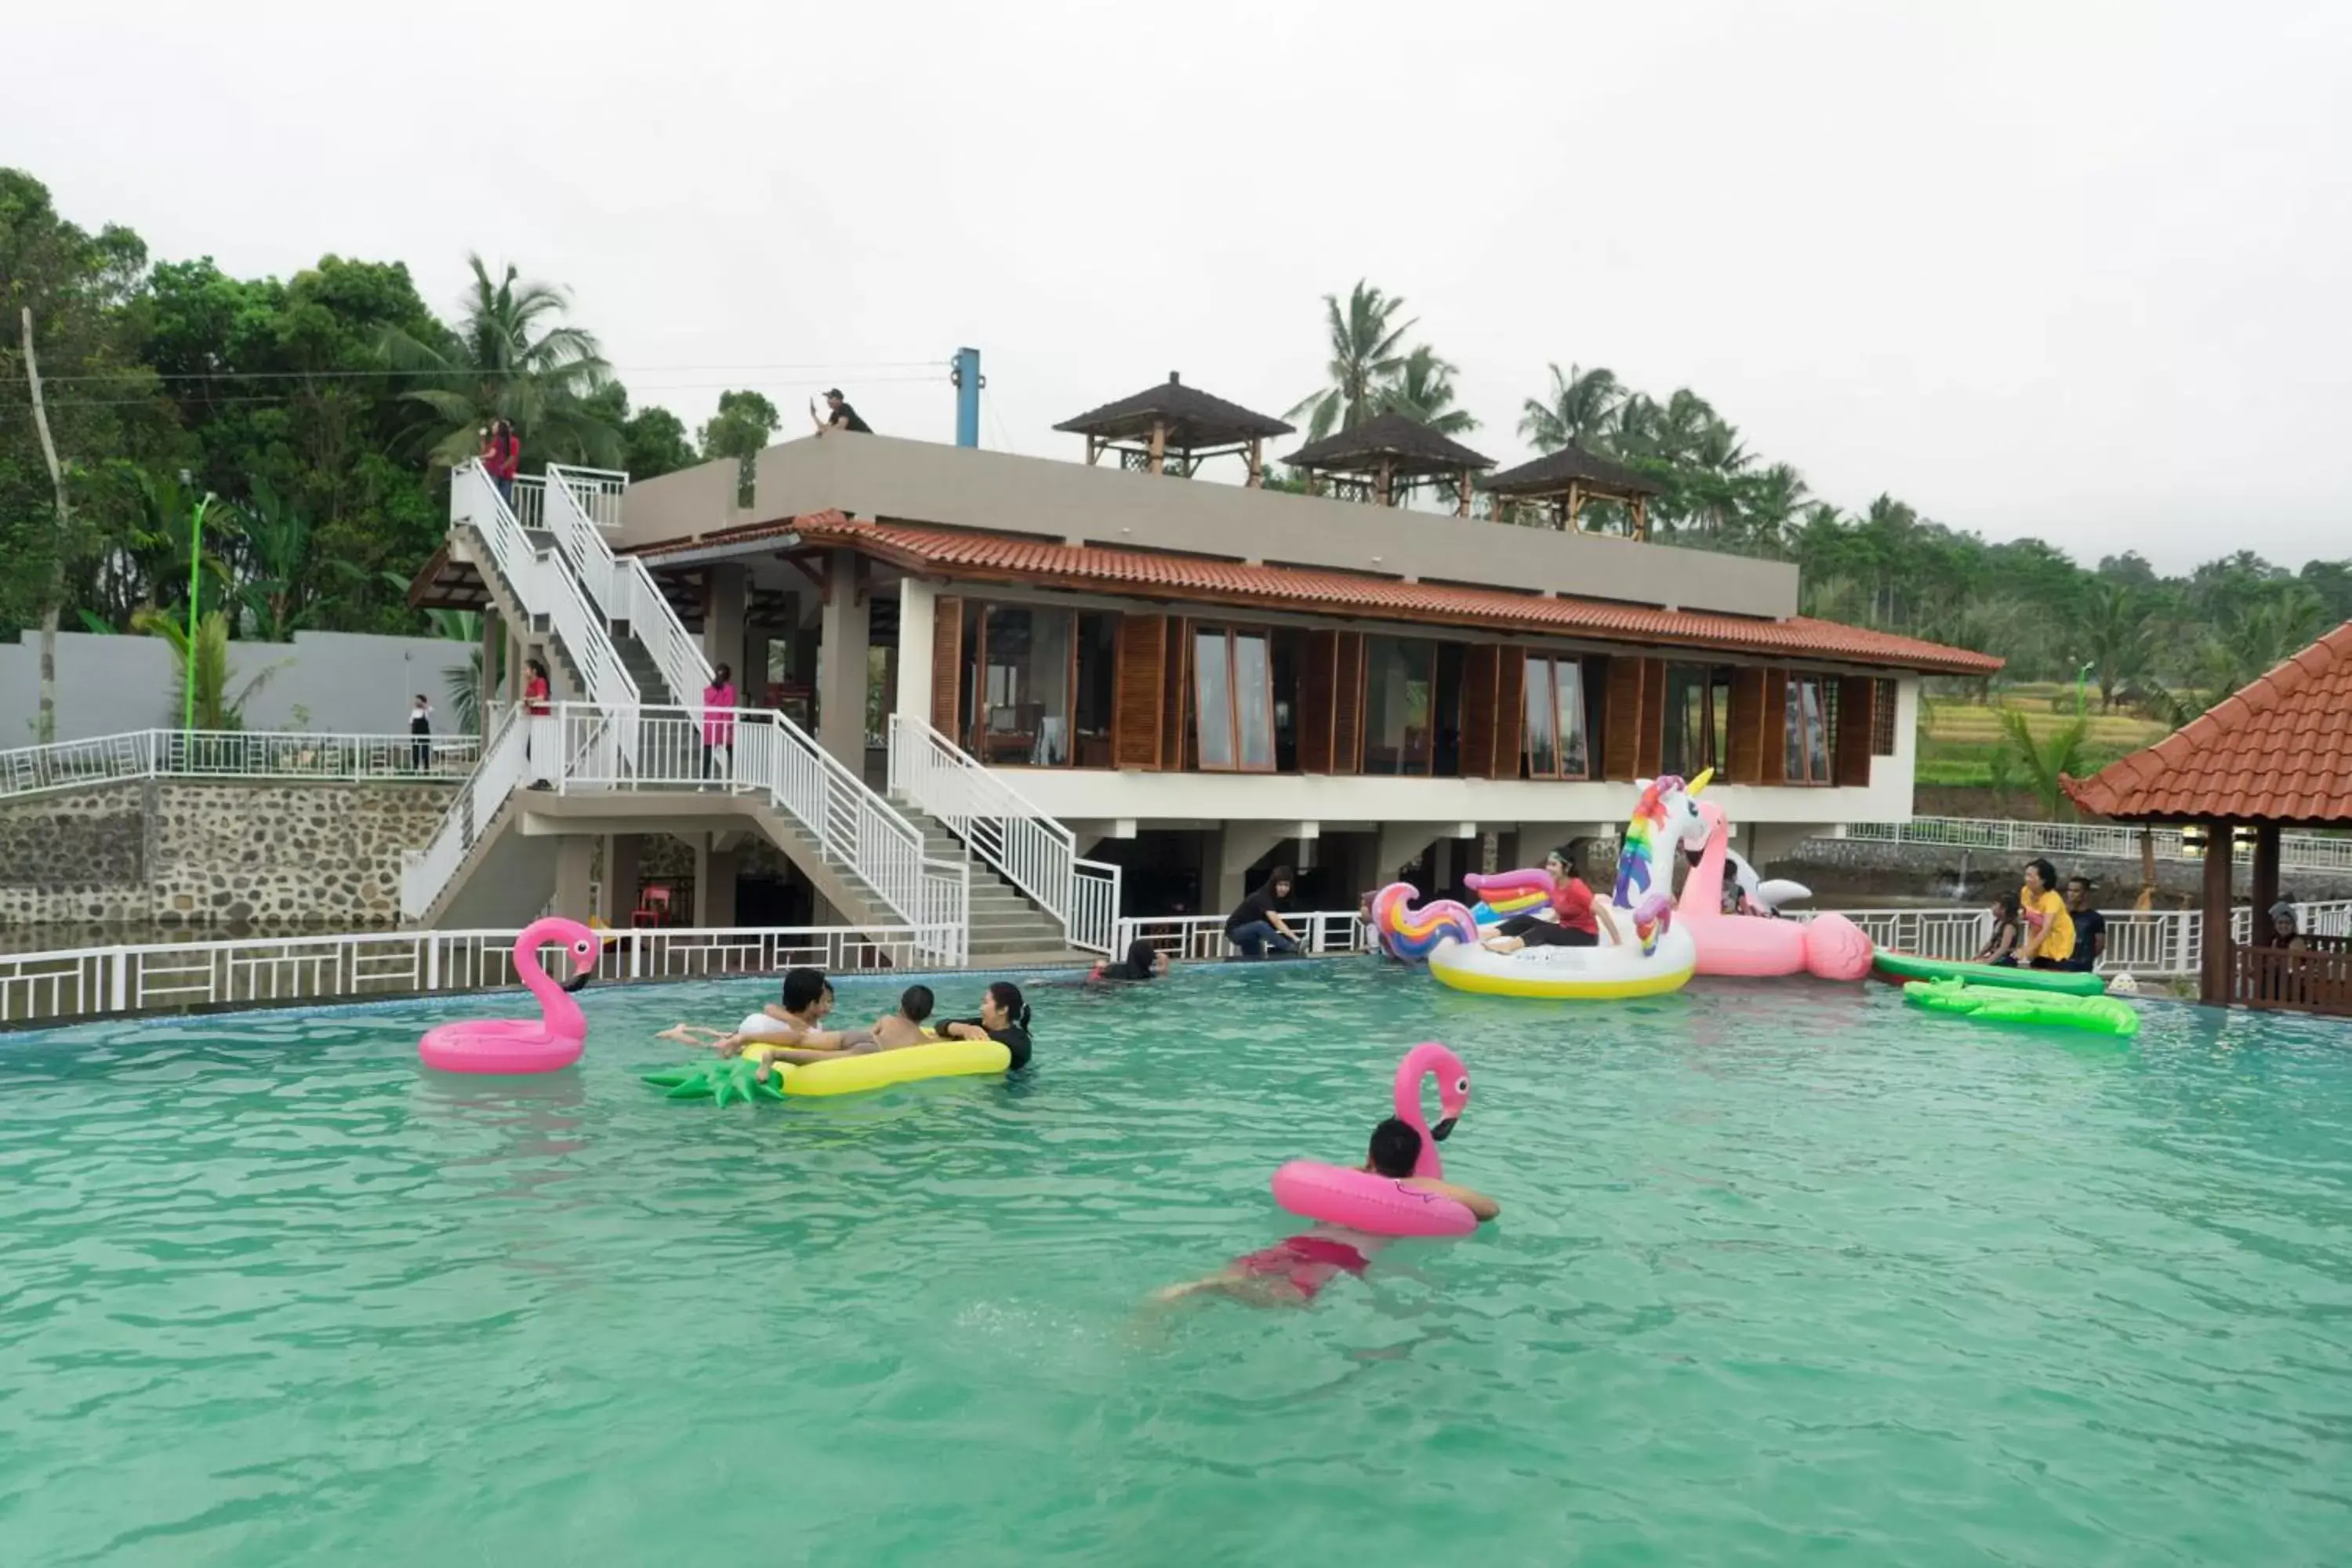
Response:
[[[230,642],[228,693],[261,670],[270,677],[245,703],[247,729],[393,736],[409,726],[409,701],[433,698],[433,729],[456,731],[449,677],[468,642],[447,637],[362,637],[296,632],[294,642]],[[56,738],[87,741],[127,729],[176,729],[172,649],[160,637],[56,635]],[[296,708],[308,712],[296,724]],[[40,710],[40,635],[0,644],[0,750],[33,745]]]

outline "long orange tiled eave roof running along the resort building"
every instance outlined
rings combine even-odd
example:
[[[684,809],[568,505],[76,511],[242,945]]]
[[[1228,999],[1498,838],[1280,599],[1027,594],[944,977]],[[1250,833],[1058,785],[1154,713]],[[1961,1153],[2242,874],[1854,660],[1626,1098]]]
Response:
[[[757,527],[771,534],[786,531],[779,524]],[[842,512],[797,517],[788,529],[809,543],[854,545],[913,571],[941,571],[978,581],[1141,592],[1155,599],[1200,599],[1209,604],[1439,625],[1484,625],[1606,642],[1642,642],[1651,646],[1708,646],[1736,654],[1823,658],[1945,675],[1992,675],[2002,668],[2002,661],[1990,654],[1947,649],[1936,642],[1870,632],[1858,625],[1811,621],[1806,616],[1762,621],[1613,604],[1606,599],[1548,599],[1508,588],[1404,583],[1319,567],[1249,567],[1204,555],[1063,545],[1042,538],[1007,538],[1002,534],[936,529],[910,522],[856,522]],[[694,543],[713,541],[680,541],[680,545]],[[654,550],[647,550],[647,555],[654,555]]]

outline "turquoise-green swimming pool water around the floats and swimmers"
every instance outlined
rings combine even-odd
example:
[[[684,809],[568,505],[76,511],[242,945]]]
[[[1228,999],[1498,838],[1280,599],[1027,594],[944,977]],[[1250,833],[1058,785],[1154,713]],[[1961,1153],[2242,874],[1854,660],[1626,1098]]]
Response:
[[[0,1039],[0,1561],[2352,1540],[2343,1027],[2152,1006],[2117,1048],[1886,987],[1566,1009],[1350,959],[1040,992],[1023,1084],[637,1084],[652,1030],[762,997],[590,990],[588,1060],[532,1081],[416,1067],[463,999]],[[1355,1157],[1425,1037],[1498,1227],[1310,1312],[1138,1309],[1287,1234],[1268,1171]]]

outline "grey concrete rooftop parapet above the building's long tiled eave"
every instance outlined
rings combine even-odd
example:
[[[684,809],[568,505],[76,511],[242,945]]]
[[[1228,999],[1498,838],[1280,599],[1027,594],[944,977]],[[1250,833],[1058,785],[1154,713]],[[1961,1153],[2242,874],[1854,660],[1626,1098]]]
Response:
[[[724,470],[706,477],[710,470]],[[731,465],[633,484],[630,545],[710,534],[746,520],[840,508],[1056,541],[1197,550],[1235,559],[1541,588],[1738,616],[1795,616],[1797,569],[1599,534],[1515,529],[1207,480],[1023,458],[889,435],[802,437],[760,454],[750,512],[734,510]]]

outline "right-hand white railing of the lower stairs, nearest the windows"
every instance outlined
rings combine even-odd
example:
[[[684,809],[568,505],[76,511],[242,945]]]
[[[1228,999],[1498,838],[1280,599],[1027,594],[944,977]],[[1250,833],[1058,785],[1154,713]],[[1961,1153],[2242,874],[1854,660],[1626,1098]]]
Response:
[[[1068,827],[1002,773],[908,712],[889,717],[889,788],[936,816],[985,865],[1061,922],[1065,940],[1110,952],[1120,919],[1120,867],[1084,860]]]

